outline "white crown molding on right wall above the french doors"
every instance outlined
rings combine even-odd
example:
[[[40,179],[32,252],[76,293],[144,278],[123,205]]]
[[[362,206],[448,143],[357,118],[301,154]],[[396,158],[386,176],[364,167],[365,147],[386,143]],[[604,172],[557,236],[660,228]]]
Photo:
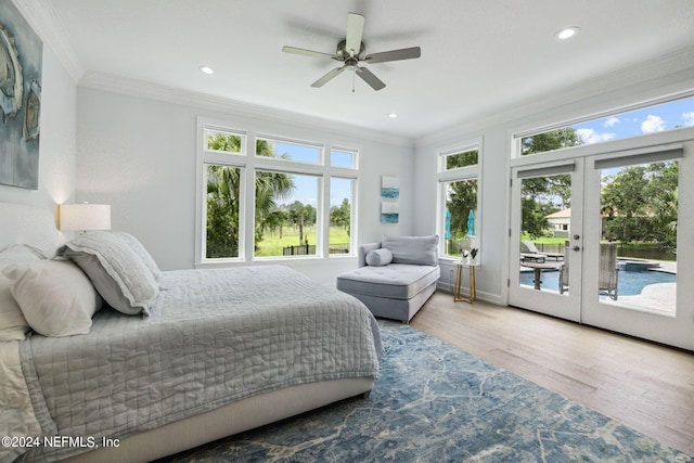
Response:
[[[628,101],[619,106],[639,104],[644,100],[656,100],[668,95],[694,90],[694,47],[687,47],[660,55],[647,62],[624,67],[612,73],[566,87],[543,98],[534,95],[525,101],[511,102],[506,107],[496,108],[479,117],[466,117],[454,126],[442,128],[415,141],[415,146],[438,143],[440,140],[460,137],[500,125],[515,125],[522,119],[554,117],[555,113],[570,112],[576,104],[587,101],[629,100],[634,91],[640,92],[639,101]],[[671,80],[671,81],[668,81]],[[657,85],[653,88],[653,83]],[[616,110],[611,105],[603,108]],[[580,110],[579,110],[580,111]],[[576,117],[587,116],[581,114]],[[553,120],[557,123],[558,119]],[[464,127],[464,129],[461,129]],[[462,132],[461,132],[462,130]]]

